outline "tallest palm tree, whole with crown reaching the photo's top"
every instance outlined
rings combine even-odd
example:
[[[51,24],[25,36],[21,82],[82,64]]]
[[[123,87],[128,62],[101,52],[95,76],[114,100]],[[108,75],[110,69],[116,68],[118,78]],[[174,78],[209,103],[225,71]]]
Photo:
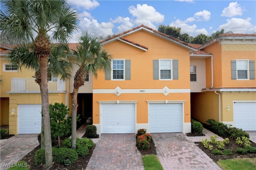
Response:
[[[0,29],[22,43],[32,43],[39,60],[46,168],[52,166],[47,68],[51,42],[66,42],[76,29],[77,13],[65,0],[6,0]]]

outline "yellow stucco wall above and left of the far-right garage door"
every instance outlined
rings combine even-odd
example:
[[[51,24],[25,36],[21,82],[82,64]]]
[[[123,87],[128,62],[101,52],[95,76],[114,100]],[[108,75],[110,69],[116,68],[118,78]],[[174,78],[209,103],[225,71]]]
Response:
[[[233,101],[256,101],[256,92],[226,92],[222,94],[222,121],[233,121]],[[230,106],[230,111],[227,111]]]

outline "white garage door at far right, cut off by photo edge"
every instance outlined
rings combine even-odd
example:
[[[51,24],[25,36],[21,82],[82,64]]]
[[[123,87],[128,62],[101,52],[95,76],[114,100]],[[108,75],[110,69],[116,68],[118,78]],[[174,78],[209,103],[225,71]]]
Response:
[[[256,131],[256,102],[235,102],[233,113],[235,127]]]

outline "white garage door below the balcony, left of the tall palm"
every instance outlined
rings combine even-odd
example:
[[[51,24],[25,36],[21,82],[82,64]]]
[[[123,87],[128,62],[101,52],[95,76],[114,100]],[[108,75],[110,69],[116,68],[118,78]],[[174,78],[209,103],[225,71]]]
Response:
[[[41,133],[41,108],[40,104],[18,105],[18,134]]]

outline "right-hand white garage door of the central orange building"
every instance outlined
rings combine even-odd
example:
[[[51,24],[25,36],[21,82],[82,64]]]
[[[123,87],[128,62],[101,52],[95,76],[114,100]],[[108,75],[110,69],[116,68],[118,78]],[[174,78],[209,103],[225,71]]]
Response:
[[[182,104],[149,104],[150,133],[182,132]]]

